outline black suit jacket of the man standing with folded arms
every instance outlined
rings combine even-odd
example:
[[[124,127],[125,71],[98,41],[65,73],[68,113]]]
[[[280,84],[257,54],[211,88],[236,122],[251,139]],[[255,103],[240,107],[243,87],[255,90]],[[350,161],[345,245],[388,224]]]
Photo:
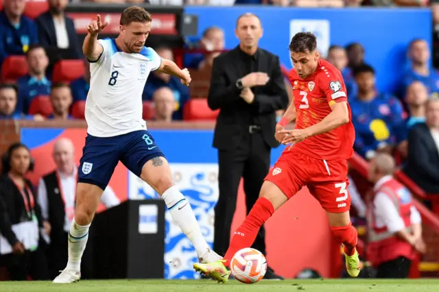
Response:
[[[239,72],[246,71],[246,64],[241,61],[239,47],[222,53],[213,60],[211,85],[207,101],[212,110],[220,109],[215,126],[213,147],[222,150],[237,149],[251,121],[252,112],[257,113],[257,124],[261,127],[264,141],[270,147],[279,143],[274,138],[276,127],[276,110],[286,109],[288,95],[281,72],[278,56],[258,49],[257,65],[259,72],[268,73],[270,81],[265,86],[251,88],[254,101],[247,104],[239,97],[241,90],[236,82],[244,77]]]

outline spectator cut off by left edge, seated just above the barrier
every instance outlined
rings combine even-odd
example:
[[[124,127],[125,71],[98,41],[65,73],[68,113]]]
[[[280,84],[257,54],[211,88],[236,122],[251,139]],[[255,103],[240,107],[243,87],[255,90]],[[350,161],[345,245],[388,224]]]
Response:
[[[31,116],[16,112],[18,89],[15,84],[0,84],[0,119],[33,119],[34,121],[44,121],[45,118],[40,114]]]

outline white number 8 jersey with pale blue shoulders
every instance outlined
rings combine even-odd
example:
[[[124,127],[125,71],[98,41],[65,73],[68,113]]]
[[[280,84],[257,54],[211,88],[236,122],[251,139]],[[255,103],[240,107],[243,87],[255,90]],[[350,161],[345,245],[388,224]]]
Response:
[[[97,42],[104,51],[90,64],[85,104],[88,134],[110,137],[146,130],[142,93],[150,72],[161,66],[160,56],[149,47],[143,47],[141,53],[124,53],[111,38]]]

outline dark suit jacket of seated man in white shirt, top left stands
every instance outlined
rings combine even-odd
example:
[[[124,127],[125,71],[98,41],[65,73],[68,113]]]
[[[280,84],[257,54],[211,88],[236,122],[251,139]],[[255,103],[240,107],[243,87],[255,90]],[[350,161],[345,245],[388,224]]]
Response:
[[[35,19],[36,26],[38,27],[38,40],[40,45],[47,48],[58,48],[58,42],[56,40],[54,19],[49,11],[41,14]],[[67,29],[67,35],[69,36],[69,51],[71,58],[82,58],[82,51],[79,45],[78,36],[75,30],[75,24],[73,20],[67,16],[64,16],[64,23]]]

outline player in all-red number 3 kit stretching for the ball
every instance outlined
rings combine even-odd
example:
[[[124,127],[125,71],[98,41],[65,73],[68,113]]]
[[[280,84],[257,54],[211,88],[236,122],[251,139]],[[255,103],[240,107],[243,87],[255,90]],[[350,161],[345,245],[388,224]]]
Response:
[[[355,131],[346,86],[340,71],[319,59],[313,34],[296,34],[289,50],[294,101],[276,125],[276,139],[287,147],[265,178],[259,199],[235,231],[223,260],[194,265],[218,282],[228,280],[227,267],[235,253],[250,247],[263,223],[303,186],[326,210],[335,239],[344,245],[349,275],[357,277],[360,271],[357,230],[349,217],[347,159],[353,154]],[[285,130],[294,120],[294,130]]]

